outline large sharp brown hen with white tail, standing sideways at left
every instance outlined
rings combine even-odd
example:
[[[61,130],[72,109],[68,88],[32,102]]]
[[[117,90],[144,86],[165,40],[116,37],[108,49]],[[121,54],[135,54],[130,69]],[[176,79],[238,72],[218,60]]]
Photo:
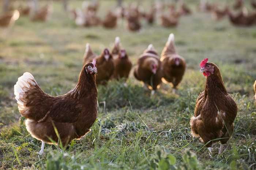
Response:
[[[96,60],[83,66],[75,88],[61,96],[42,91],[32,74],[26,72],[14,85],[20,114],[26,118],[27,131],[45,143],[62,142],[66,146],[90,132],[97,118]],[[56,127],[59,135],[54,130]],[[58,138],[59,136],[59,138]],[[52,139],[52,140],[50,140]]]

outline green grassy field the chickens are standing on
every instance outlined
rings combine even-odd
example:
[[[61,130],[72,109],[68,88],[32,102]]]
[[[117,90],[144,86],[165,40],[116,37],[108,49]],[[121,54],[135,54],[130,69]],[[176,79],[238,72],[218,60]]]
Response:
[[[100,15],[114,3],[102,1]],[[1,28],[0,169],[256,169],[256,29],[234,27],[227,18],[215,22],[210,14],[195,12],[195,4],[191,7],[193,15],[182,17],[177,28],[143,21],[142,30],[134,33],[121,21],[114,30],[77,27],[55,2],[46,23],[21,17],[11,29]],[[30,72],[46,93],[65,94],[78,80],[87,42],[100,53],[120,36],[135,65],[150,43],[160,54],[170,33],[187,61],[177,94],[163,84],[151,97],[132,75],[127,87],[117,81],[98,86],[100,107],[92,131],[61,152],[46,144],[45,153],[37,154],[41,142],[27,132],[14,98],[19,76]],[[199,62],[205,57],[219,66],[239,108],[225,151],[218,156],[219,143],[214,144],[212,158],[204,144],[192,138],[189,125],[196,98],[204,90]]]

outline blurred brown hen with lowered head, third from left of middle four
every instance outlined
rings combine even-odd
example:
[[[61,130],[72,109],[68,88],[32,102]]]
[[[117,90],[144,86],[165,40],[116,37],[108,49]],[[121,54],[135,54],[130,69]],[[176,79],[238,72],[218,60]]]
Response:
[[[134,77],[144,82],[144,86],[152,89],[151,94],[155,93],[158,85],[162,82],[162,65],[154,46],[151,44],[138,59],[134,72]]]

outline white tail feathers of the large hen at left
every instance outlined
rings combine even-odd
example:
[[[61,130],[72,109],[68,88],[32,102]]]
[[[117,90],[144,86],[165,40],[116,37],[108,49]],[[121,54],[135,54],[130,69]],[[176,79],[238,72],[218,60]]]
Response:
[[[14,85],[14,94],[15,99],[19,104],[19,111],[25,109],[24,102],[20,100],[20,96],[24,95],[24,93],[27,91],[27,88],[30,87],[30,84],[36,85],[37,82],[35,81],[35,78],[32,76],[32,74],[26,72],[18,78],[18,81]]]

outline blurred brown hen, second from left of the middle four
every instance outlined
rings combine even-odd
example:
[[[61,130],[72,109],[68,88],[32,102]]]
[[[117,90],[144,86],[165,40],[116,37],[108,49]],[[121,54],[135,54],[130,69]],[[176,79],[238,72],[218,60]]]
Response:
[[[128,78],[132,69],[132,62],[130,61],[126,51],[120,50],[120,38],[116,37],[114,48],[112,49],[112,55],[114,59],[114,73],[113,77],[117,80],[120,78]]]

